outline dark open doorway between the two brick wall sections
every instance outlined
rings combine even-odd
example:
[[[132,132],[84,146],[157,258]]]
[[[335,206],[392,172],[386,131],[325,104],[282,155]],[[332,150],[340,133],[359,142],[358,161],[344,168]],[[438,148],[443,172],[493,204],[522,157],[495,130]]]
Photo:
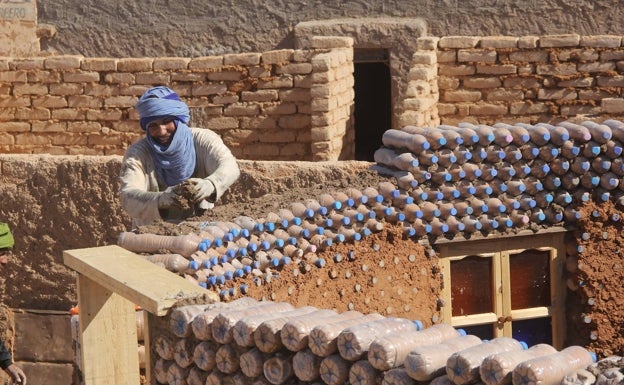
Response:
[[[373,161],[392,126],[390,63],[386,49],[354,50],[355,160]]]

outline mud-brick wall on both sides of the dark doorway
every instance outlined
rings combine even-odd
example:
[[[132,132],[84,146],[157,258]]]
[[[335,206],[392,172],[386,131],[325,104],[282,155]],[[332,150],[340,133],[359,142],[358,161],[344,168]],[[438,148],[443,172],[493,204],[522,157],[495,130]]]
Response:
[[[415,42],[393,96],[396,128],[624,115],[621,36]],[[309,44],[194,58],[5,58],[0,150],[123,154],[142,136],[137,98],[168,84],[188,102],[192,124],[217,131],[240,159],[353,159],[354,40],[316,36]]]

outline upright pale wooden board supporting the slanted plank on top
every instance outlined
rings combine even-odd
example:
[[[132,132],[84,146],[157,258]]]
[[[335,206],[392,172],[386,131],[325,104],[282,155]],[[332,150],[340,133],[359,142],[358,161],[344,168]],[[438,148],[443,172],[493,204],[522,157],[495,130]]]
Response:
[[[85,385],[138,384],[134,304],[79,275],[78,306]]]

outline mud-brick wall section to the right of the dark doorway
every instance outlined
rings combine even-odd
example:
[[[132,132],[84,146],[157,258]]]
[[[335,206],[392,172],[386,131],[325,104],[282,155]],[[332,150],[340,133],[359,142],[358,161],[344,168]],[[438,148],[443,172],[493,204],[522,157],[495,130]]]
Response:
[[[621,36],[447,36],[419,41],[412,73],[418,73],[423,84],[437,76],[439,95],[433,88],[423,92],[418,103],[410,104],[413,111],[404,115],[406,123],[426,124],[417,112],[427,109],[432,97],[439,98],[443,124],[624,115]],[[432,53],[437,75],[422,68],[426,64],[422,58],[433,62]],[[410,84],[413,81],[411,76]]]

